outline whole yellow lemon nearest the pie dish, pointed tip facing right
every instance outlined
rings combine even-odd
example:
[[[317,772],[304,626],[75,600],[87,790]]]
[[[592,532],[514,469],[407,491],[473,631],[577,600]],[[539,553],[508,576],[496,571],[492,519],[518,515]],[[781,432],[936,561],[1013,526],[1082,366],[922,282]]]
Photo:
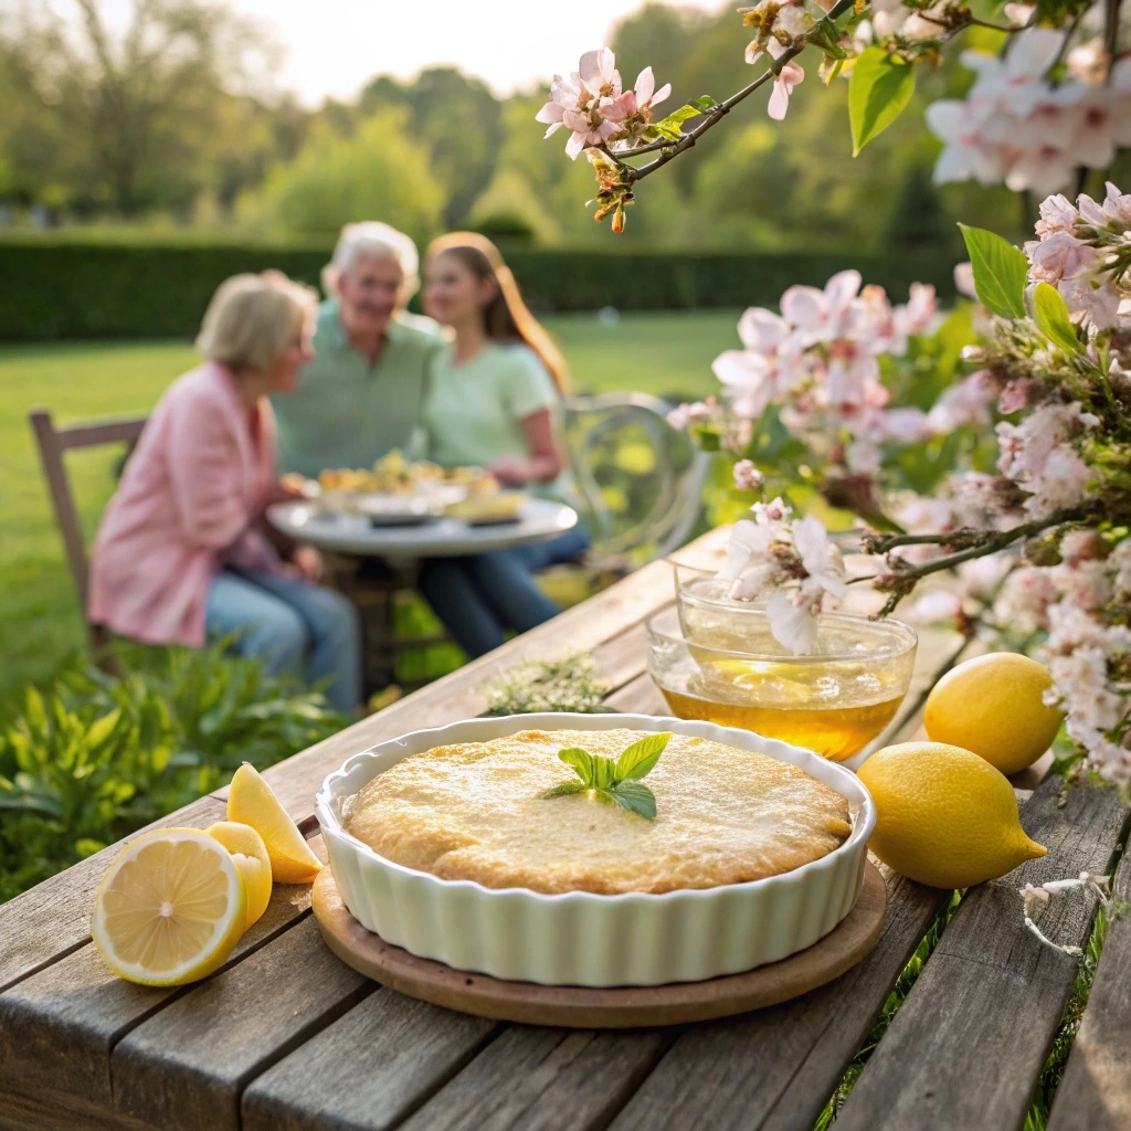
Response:
[[[1005,776],[969,750],[941,742],[884,746],[858,777],[875,802],[867,847],[910,880],[968,888],[1045,854],[1025,835]]]

